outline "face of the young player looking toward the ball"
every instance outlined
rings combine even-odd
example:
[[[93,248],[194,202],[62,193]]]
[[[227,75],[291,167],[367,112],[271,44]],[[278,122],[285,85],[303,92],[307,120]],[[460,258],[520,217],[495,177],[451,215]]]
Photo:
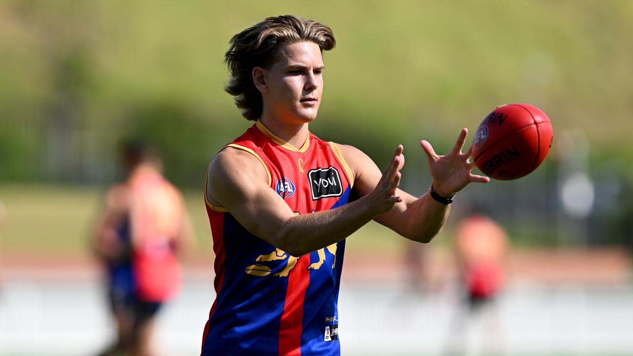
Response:
[[[282,45],[277,61],[265,71],[264,111],[289,124],[314,120],[323,94],[323,68],[314,42]]]

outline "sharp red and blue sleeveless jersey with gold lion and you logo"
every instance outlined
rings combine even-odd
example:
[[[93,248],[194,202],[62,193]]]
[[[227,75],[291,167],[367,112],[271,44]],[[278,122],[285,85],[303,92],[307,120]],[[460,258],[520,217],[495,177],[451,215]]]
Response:
[[[296,214],[348,202],[353,174],[334,143],[309,134],[294,148],[256,122],[226,147],[254,155]],[[205,194],[206,200],[206,194]],[[216,299],[202,355],[339,355],[337,300],[345,241],[293,257],[206,200]]]

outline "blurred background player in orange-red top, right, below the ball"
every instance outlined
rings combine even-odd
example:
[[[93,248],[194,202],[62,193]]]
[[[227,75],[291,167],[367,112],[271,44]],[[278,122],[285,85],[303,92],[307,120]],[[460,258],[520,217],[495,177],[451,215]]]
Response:
[[[472,331],[480,334],[482,355],[503,352],[495,302],[505,279],[509,241],[503,227],[473,205],[460,220],[454,236],[460,308],[449,333],[448,355],[465,355]],[[473,327],[474,324],[479,327]],[[475,330],[473,330],[475,329]]]

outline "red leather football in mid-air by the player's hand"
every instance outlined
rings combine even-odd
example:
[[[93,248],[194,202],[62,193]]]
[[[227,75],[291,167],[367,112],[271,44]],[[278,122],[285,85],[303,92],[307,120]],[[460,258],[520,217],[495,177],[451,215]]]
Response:
[[[529,104],[498,106],[475,132],[473,160],[487,176],[510,181],[539,167],[552,139],[552,124],[541,109]]]

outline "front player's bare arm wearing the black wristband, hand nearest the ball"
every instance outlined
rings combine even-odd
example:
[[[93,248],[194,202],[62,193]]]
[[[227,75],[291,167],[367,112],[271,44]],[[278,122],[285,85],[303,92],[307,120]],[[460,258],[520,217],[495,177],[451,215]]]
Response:
[[[420,143],[429,160],[432,185],[442,196],[450,196],[470,182],[489,181],[487,177],[473,175],[470,172],[475,167],[473,162],[468,162],[470,149],[466,153],[461,153],[467,133],[466,129],[461,130],[455,146],[446,156],[436,155],[427,141]],[[354,170],[356,192],[360,196],[368,194],[380,179],[379,168],[360,150],[344,145],[339,145],[339,148]],[[396,155],[402,155],[402,152],[402,146],[398,146]],[[401,161],[404,163],[404,156]],[[415,198],[401,189],[396,189],[395,195],[400,196],[402,201],[396,203],[391,210],[378,215],[375,220],[413,241],[427,243],[434,238],[448,218],[450,205],[438,203],[429,193]]]

